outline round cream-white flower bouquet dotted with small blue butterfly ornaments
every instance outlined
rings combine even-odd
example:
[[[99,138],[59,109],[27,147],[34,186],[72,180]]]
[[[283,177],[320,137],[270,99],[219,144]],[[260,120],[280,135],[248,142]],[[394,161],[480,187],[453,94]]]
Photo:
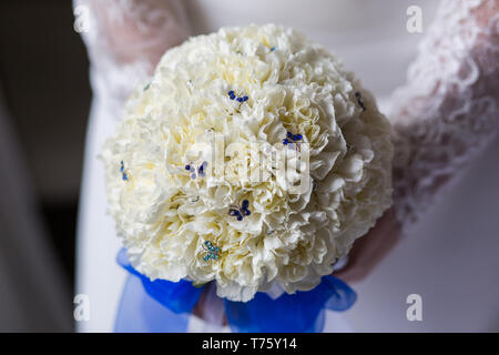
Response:
[[[125,111],[102,153],[109,210],[152,280],[216,281],[218,296],[243,302],[275,283],[308,291],[391,203],[388,121],[292,29],[191,38]]]

